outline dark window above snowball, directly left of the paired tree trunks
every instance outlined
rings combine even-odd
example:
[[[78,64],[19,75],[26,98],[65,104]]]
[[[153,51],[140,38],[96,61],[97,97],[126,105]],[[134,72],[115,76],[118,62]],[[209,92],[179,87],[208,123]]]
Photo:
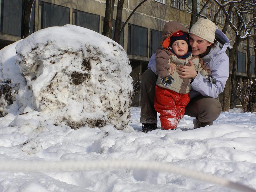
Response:
[[[100,32],[100,15],[73,10],[72,24]]]

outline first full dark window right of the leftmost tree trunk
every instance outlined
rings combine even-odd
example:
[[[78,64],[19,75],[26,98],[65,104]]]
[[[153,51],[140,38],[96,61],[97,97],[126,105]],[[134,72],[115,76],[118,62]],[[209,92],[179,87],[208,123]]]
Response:
[[[67,7],[39,1],[38,30],[69,24],[69,11]]]

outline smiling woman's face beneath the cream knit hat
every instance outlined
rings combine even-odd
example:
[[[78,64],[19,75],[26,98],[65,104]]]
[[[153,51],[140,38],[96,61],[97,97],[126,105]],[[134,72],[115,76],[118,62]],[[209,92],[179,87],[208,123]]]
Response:
[[[207,47],[212,45],[212,43],[210,43],[194,34],[189,35],[189,44],[192,48],[191,53],[193,56],[197,56],[197,55],[204,53],[206,51]]]

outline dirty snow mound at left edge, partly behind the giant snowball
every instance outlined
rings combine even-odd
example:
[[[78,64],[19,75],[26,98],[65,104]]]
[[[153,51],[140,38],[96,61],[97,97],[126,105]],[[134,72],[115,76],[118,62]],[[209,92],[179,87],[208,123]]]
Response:
[[[26,79],[15,63],[15,46],[18,42],[0,50],[0,117],[8,113],[21,113],[24,105],[28,105],[31,93],[26,90]]]

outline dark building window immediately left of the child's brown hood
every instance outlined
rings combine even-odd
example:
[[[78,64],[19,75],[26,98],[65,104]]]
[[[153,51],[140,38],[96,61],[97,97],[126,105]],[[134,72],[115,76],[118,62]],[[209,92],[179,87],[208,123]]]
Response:
[[[149,57],[156,52],[156,49],[161,47],[160,42],[162,41],[162,31],[150,29],[149,34]]]

